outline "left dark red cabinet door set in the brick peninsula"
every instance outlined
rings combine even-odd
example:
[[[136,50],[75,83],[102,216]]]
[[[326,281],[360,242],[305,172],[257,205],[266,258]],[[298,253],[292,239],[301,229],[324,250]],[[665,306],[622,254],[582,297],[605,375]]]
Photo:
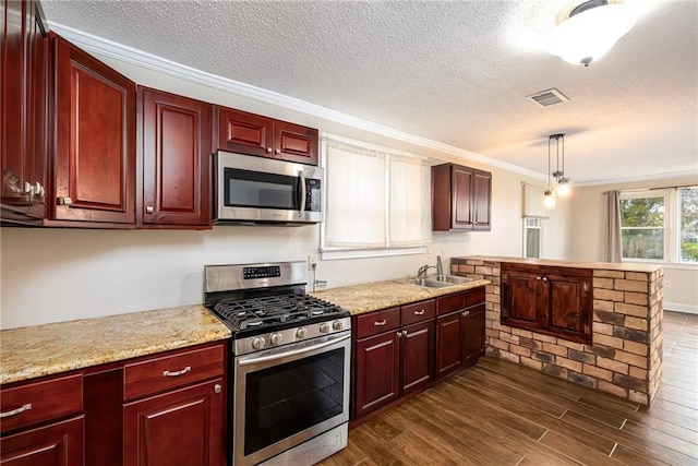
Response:
[[[502,276],[502,323],[535,331],[547,304],[541,274],[506,271]],[[544,302],[543,302],[544,301]]]

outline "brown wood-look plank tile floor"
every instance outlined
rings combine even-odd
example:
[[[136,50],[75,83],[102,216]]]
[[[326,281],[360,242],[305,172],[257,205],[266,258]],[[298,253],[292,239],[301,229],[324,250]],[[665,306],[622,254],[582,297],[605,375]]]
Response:
[[[665,311],[663,326],[649,408],[485,357],[351,430],[321,465],[698,465],[698,315]]]

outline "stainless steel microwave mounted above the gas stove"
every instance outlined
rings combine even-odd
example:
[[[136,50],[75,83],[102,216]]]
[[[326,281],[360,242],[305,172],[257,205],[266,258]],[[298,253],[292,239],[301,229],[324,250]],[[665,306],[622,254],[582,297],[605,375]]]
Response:
[[[218,151],[214,154],[214,225],[323,222],[323,169]]]

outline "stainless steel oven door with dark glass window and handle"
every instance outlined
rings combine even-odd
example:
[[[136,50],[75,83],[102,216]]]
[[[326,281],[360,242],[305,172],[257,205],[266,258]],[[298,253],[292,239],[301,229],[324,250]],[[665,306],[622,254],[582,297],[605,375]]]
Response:
[[[263,462],[349,421],[350,336],[234,358],[236,466]]]

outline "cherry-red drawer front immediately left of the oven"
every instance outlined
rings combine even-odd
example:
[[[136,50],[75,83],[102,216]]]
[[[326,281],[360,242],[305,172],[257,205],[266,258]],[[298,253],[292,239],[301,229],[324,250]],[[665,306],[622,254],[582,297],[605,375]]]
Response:
[[[222,372],[222,345],[127,365],[123,369],[123,397],[137,398],[218,377]]]

